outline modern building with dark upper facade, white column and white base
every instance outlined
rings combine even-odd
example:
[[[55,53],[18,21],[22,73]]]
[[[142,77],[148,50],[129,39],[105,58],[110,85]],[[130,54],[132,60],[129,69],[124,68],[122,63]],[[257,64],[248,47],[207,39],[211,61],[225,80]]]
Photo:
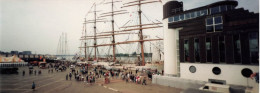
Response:
[[[166,76],[250,86],[259,71],[259,14],[218,1],[183,10],[183,2],[163,6]]]

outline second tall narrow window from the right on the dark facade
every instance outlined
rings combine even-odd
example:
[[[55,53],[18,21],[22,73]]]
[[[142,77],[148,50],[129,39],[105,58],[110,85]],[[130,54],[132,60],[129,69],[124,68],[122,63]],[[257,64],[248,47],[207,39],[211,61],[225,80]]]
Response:
[[[233,36],[234,43],[234,61],[235,63],[241,63],[241,47],[239,35]]]

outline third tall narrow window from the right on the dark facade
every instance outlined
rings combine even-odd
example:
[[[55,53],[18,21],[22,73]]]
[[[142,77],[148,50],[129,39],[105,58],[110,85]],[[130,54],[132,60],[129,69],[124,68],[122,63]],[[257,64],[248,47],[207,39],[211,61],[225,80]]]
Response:
[[[220,36],[218,38],[218,46],[219,46],[219,61],[225,62],[226,59],[226,49],[225,49],[225,37]]]

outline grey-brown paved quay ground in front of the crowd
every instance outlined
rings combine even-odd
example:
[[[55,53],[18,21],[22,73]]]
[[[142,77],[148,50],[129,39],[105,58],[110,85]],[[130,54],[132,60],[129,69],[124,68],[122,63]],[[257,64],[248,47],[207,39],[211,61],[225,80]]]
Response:
[[[22,71],[25,70],[25,76]],[[34,70],[39,70],[34,67]],[[94,84],[76,81],[74,76],[66,80],[67,69],[63,72],[48,73],[48,69],[41,69],[42,74],[29,75],[28,67],[20,67],[19,74],[0,74],[0,93],[180,93],[182,89],[154,85],[147,80],[147,85],[126,83],[120,78],[111,79],[109,84],[104,84],[104,79],[99,78]],[[36,84],[33,91],[32,82]]]

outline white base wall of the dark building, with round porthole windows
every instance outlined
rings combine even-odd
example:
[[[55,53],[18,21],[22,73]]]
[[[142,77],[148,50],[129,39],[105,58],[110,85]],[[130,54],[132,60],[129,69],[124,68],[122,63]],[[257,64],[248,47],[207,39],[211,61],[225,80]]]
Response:
[[[196,67],[196,72],[191,73],[189,71],[190,66]],[[213,67],[219,67],[221,73],[215,75],[212,73]],[[200,63],[181,63],[181,78],[208,81],[209,79],[226,80],[227,84],[253,86],[255,81],[246,78],[241,74],[242,69],[249,68],[253,72],[259,72],[259,66],[249,66],[249,65],[228,65],[228,64],[200,64]],[[247,82],[248,81],[248,82]]]

